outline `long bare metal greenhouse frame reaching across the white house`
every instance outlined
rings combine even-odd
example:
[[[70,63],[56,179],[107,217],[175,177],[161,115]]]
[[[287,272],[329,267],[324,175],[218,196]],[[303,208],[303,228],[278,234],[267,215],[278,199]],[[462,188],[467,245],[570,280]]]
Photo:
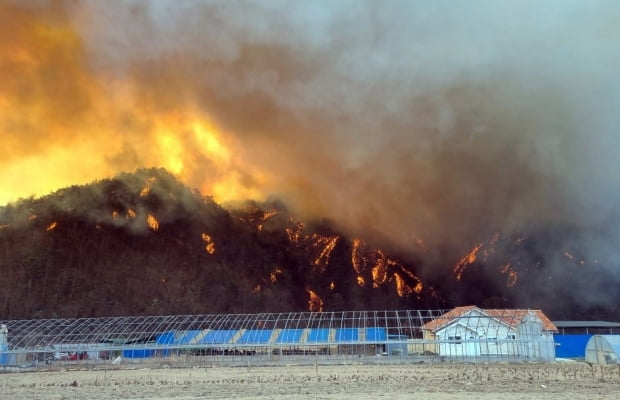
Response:
[[[384,310],[0,321],[0,371],[68,364],[541,360],[528,350],[540,346],[539,335],[500,337],[504,327],[497,316],[464,316],[455,322],[449,314]],[[501,317],[522,316],[506,310]],[[477,333],[442,339],[430,332],[431,325]],[[471,348],[477,350],[466,351]]]

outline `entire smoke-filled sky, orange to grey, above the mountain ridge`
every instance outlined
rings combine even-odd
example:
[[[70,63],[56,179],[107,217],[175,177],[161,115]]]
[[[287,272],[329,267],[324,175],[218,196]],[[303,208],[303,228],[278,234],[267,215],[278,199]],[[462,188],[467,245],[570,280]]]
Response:
[[[558,223],[616,243],[618,17],[611,1],[5,1],[0,198],[163,166],[402,248]]]

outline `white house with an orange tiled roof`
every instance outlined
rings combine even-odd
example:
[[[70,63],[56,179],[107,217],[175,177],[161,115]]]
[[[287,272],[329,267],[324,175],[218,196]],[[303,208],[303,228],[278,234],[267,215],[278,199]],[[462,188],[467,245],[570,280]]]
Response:
[[[456,307],[422,329],[444,357],[555,358],[557,328],[541,310]]]

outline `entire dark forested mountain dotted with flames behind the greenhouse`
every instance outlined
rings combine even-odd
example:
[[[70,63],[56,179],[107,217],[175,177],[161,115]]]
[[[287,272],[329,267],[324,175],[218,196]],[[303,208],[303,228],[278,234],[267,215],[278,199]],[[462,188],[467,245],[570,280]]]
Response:
[[[618,319],[618,278],[566,250],[567,235],[496,233],[434,265],[423,250],[301,221],[279,201],[226,209],[163,169],[140,169],[0,207],[0,319],[465,303]],[[549,247],[570,261],[562,271]],[[580,302],[584,289],[603,300]]]

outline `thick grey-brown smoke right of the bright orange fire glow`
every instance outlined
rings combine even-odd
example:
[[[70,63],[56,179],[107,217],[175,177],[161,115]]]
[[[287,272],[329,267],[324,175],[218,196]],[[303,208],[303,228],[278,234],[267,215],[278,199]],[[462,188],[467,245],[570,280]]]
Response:
[[[134,82],[153,112],[198,104],[241,144],[248,185],[261,171],[263,192],[301,214],[403,249],[423,240],[438,260],[438,244],[462,255],[496,231],[617,221],[615,1],[82,1],[67,12],[89,68]]]

